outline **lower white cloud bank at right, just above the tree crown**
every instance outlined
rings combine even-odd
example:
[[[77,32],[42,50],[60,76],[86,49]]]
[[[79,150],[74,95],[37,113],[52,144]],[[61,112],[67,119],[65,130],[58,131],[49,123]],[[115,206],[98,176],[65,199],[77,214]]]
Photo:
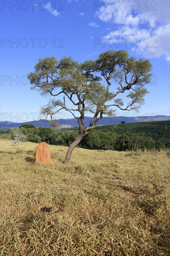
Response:
[[[136,54],[142,54],[144,57],[158,58],[165,56],[166,60],[170,60],[170,24],[159,26],[155,30],[138,29],[138,27],[122,26],[120,29],[111,31],[104,36],[104,40],[116,42],[119,40],[125,46],[127,44],[132,47],[132,51]]]

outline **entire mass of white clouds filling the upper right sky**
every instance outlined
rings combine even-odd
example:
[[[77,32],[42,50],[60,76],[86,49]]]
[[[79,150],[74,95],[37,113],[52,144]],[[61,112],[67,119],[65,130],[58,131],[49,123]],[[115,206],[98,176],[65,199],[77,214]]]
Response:
[[[103,37],[104,40],[119,39],[123,42],[127,39],[132,51],[137,54],[149,58],[165,56],[166,60],[170,60],[170,1],[148,2],[148,7],[140,1],[140,8],[135,12],[132,8],[125,8],[123,2],[122,8],[116,11],[112,3],[108,1],[105,7],[101,6],[96,12],[100,20],[110,21],[118,26],[109,31]],[[129,2],[129,7],[131,3],[132,1]],[[131,45],[134,39],[138,40],[138,47]]]

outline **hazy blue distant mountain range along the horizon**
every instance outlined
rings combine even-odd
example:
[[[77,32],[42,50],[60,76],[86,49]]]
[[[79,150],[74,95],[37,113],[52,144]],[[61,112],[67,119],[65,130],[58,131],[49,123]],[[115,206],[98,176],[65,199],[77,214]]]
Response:
[[[89,126],[92,117],[85,116],[85,126]],[[154,115],[154,116],[115,116],[115,117],[103,117],[100,121],[98,121],[97,125],[111,125],[111,124],[119,124],[121,121],[125,121],[126,123],[132,122],[146,122],[146,121],[168,121],[170,120],[170,116],[168,115]],[[56,120],[59,122],[58,128],[70,128],[78,126],[78,122],[76,118],[72,119],[59,119]],[[7,128],[19,128],[22,124],[33,124],[35,127],[50,127],[49,120],[39,120],[39,121],[29,121],[29,122],[10,122],[10,121],[0,121],[0,129]]]

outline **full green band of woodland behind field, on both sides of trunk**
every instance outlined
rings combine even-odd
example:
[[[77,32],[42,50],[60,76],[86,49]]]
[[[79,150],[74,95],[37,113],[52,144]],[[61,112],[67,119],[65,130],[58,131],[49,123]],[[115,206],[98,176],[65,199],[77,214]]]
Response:
[[[78,135],[77,128],[57,130],[35,128],[30,124],[23,124],[18,130],[26,135],[28,141],[45,141],[62,146],[69,146]],[[1,131],[1,137],[8,138],[10,135],[14,138],[13,131],[14,129]],[[118,151],[170,148],[170,121],[98,126],[82,139],[78,147]]]

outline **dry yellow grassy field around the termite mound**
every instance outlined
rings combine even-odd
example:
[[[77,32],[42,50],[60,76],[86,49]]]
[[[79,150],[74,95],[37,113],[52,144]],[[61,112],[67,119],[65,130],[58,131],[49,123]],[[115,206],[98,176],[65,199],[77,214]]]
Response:
[[[170,152],[36,146],[0,141],[1,256],[170,256]]]

